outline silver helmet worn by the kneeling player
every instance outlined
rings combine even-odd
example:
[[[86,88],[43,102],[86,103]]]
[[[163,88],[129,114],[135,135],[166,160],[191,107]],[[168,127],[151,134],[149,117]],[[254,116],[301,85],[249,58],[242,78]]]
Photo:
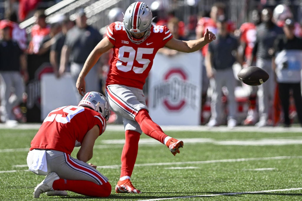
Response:
[[[78,105],[90,107],[100,113],[106,121],[109,119],[109,102],[101,93],[95,91],[86,93]]]

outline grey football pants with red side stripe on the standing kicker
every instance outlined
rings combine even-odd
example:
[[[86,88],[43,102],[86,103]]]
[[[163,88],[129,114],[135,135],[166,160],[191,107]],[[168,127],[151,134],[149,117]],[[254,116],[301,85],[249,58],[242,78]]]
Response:
[[[148,111],[143,90],[112,84],[106,87],[106,97],[111,110],[123,117],[125,130],[135,130],[142,133],[140,125],[134,118],[141,109]]]

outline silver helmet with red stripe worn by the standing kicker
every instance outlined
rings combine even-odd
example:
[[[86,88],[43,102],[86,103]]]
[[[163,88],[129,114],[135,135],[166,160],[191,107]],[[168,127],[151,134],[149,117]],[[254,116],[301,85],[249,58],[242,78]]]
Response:
[[[131,4],[124,14],[124,26],[131,42],[140,44],[144,42],[151,33],[152,12],[144,2]],[[145,33],[143,37],[137,39],[132,34]]]

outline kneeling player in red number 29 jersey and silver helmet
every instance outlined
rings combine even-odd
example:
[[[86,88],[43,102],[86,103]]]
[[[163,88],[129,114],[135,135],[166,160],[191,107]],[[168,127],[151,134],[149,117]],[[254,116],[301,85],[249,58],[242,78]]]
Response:
[[[27,155],[29,170],[46,175],[34,189],[35,198],[44,192],[48,196],[67,195],[66,190],[94,197],[110,195],[108,178],[95,165],[86,163],[108,118],[109,103],[98,92],[88,92],[78,106],[60,107],[48,114]],[[77,159],[70,156],[75,146],[81,146]]]

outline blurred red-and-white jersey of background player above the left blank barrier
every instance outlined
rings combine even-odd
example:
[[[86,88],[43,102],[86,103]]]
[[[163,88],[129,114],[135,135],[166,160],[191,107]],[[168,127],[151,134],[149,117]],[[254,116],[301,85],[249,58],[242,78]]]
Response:
[[[40,49],[41,42],[45,36],[50,32],[50,27],[46,26],[41,28],[39,25],[35,24],[31,28],[31,41],[28,46],[28,53],[37,54]]]

